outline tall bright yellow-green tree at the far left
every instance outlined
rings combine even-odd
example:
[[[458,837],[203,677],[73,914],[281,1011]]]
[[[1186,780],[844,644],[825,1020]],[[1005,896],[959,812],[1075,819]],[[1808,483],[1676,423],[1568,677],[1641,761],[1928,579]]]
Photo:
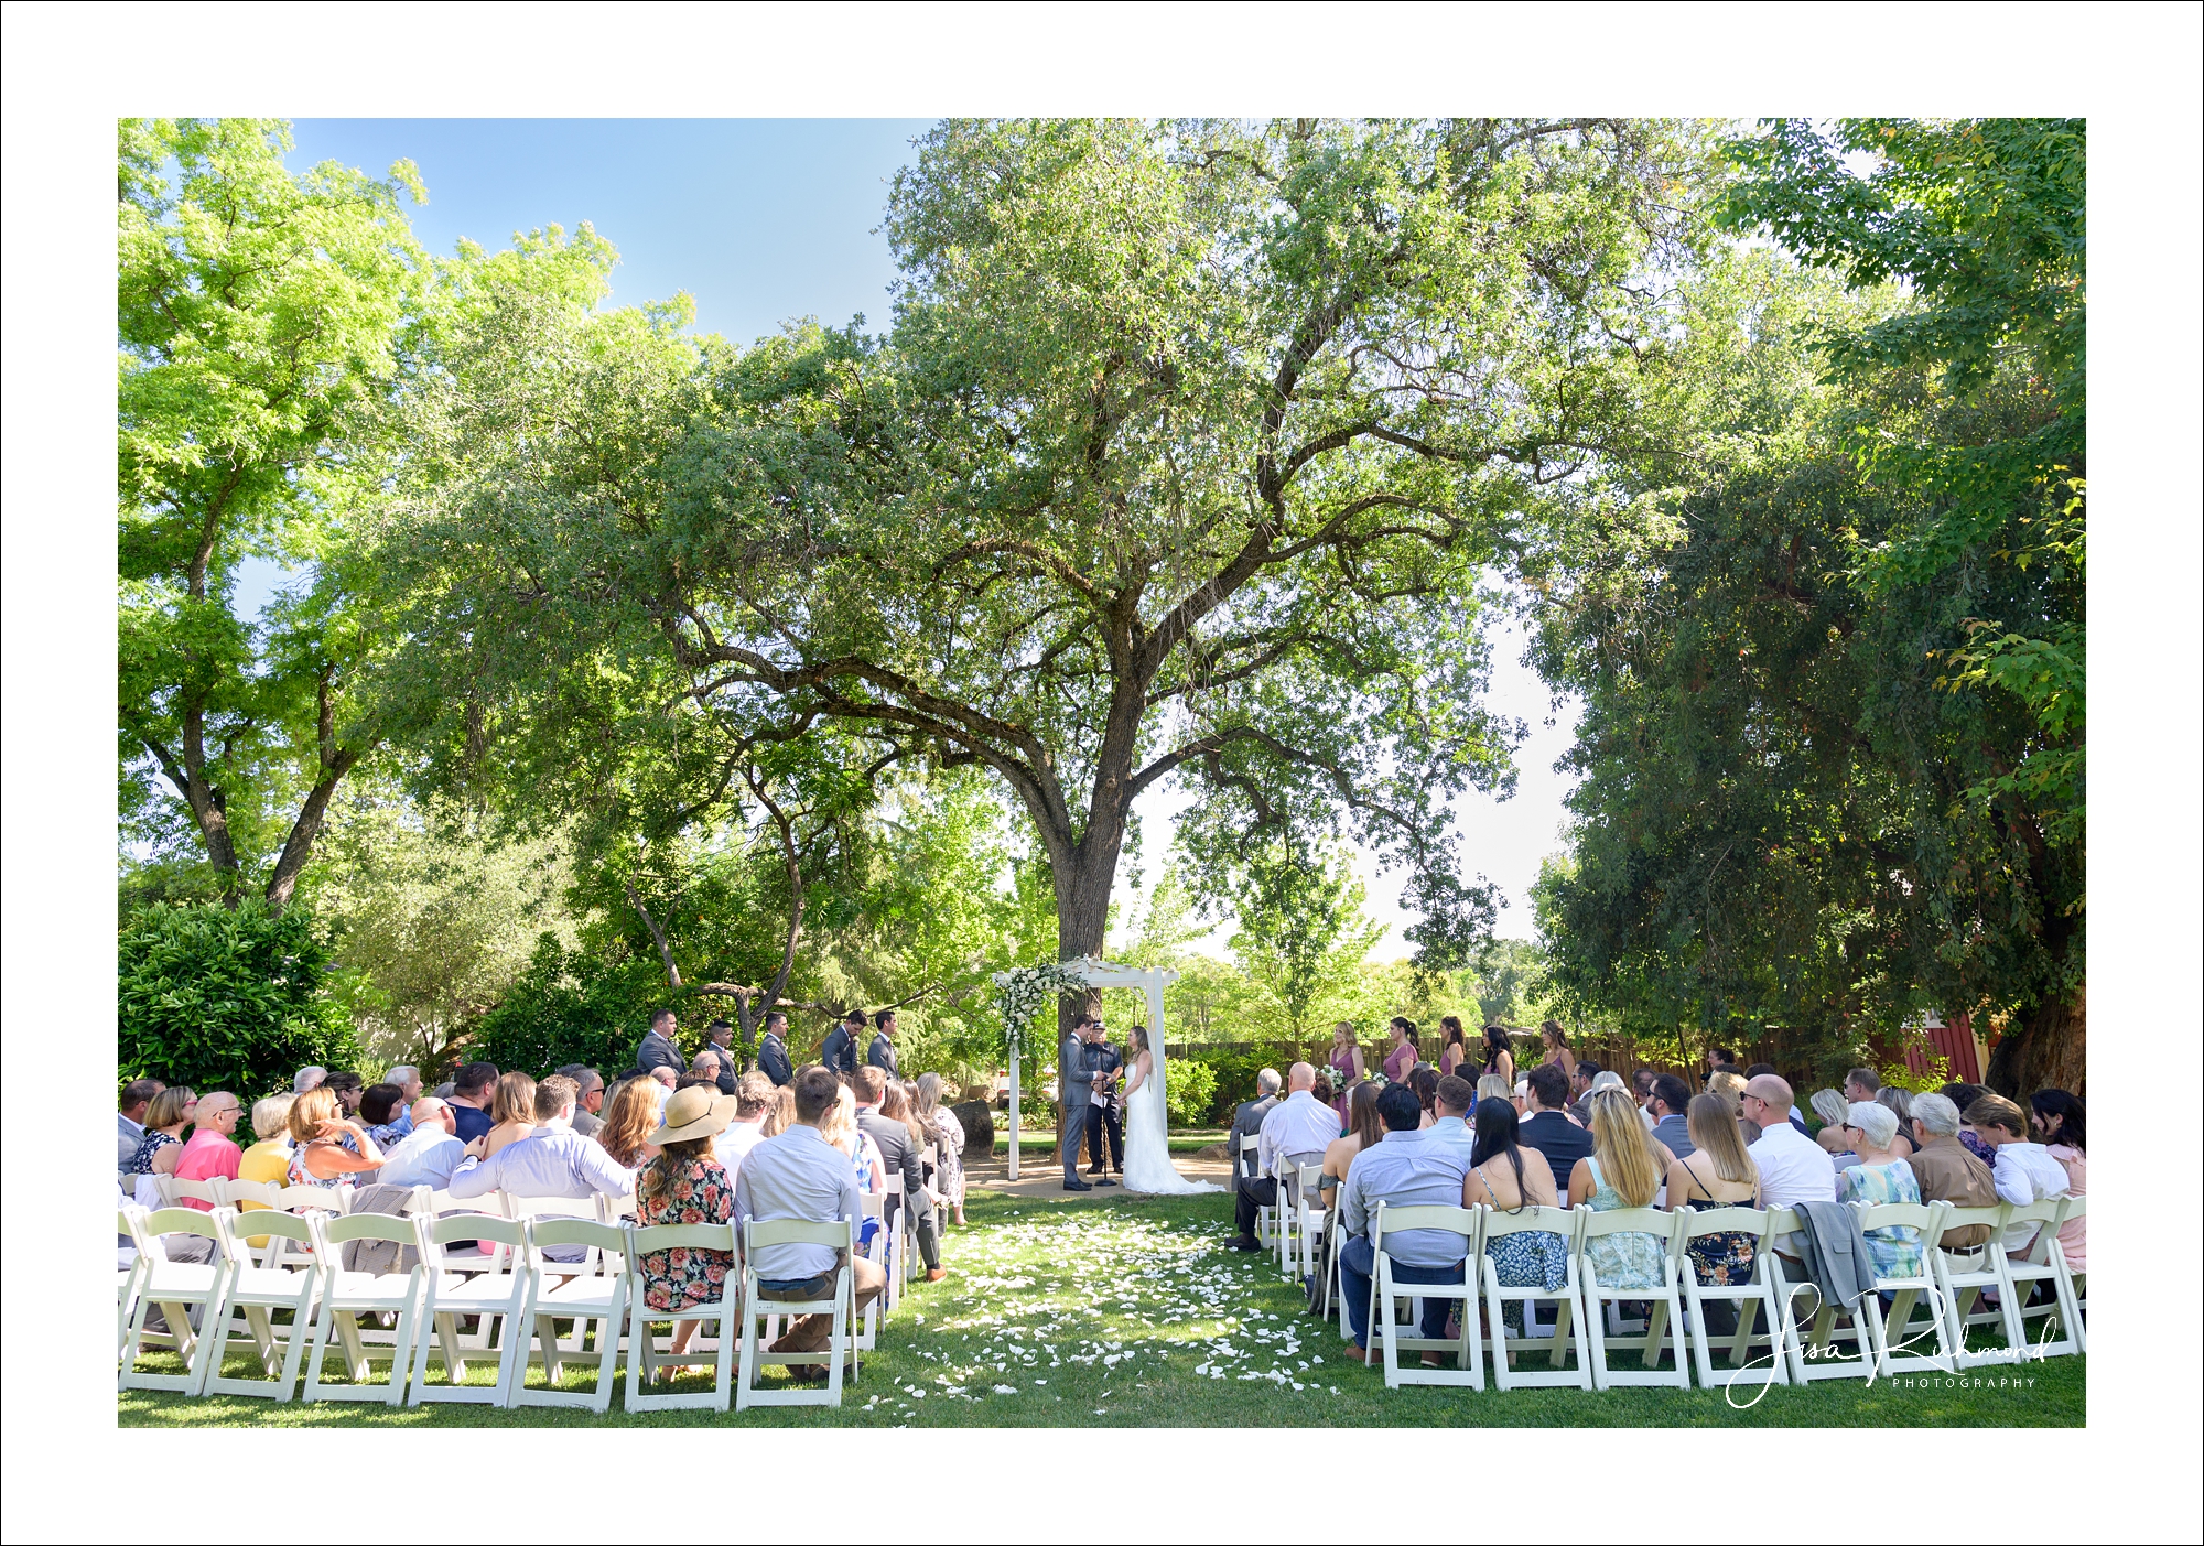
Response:
[[[392,639],[355,535],[425,273],[410,163],[293,174],[289,148],[273,121],[123,119],[117,203],[123,835],[229,899],[264,872],[278,905],[379,738],[359,678]],[[260,619],[231,610],[247,557],[304,570]]]

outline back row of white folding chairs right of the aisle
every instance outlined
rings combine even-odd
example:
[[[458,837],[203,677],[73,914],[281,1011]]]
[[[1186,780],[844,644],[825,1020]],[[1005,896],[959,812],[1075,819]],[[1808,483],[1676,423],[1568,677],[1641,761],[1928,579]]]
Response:
[[[1338,1260],[1344,1231],[1336,1227],[1338,1209],[1320,1189],[1318,1167],[1300,1167],[1281,1189],[1278,1216],[1272,1222],[1274,1244],[1292,1271],[1303,1277],[1322,1273],[1318,1313],[1329,1319],[1333,1306],[1342,1335],[1349,1328],[1347,1306],[1336,1295]],[[1688,1365],[1697,1365],[1697,1383],[1715,1387],[1746,1383],[1807,1383],[1816,1379],[1873,1379],[1909,1370],[1957,1370],[1986,1363],[2019,1363],[2072,1352],[2087,1352],[2087,1282],[2072,1273],[2059,1246],[2059,1227],[2087,1216],[2087,1198],[2054,1198],[2048,1202],[1962,1209],[1948,1202],[1929,1205],[1849,1205],[1860,1229],[1902,1227],[1920,1231],[1922,1273],[1917,1277],[1878,1277],[1876,1293],[1862,1295],[1858,1308],[1814,1304],[1809,1330],[1798,1321],[1796,1295],[1812,1284],[1785,1277],[1783,1258],[1774,1244],[1801,1229],[1794,1209],[1611,1209],[1525,1207],[1508,1213],[1492,1207],[1391,1207],[1380,1202],[1371,1218],[1373,1275],[1369,1313],[1369,1359],[1384,1361],[1386,1385],[1437,1383],[1483,1390],[1483,1365],[1490,1357],[1492,1381],[1501,1390],[1514,1385],[1576,1385],[1609,1390],[1613,1385],[1690,1387]],[[1944,1244],[1951,1231],[1979,1224],[1988,1238],[1953,1249]],[[2034,1227],[2023,1251],[2006,1249],[2006,1231]],[[1386,1231],[1441,1229],[1461,1238],[1463,1260],[1479,1269],[1459,1286],[1424,1286],[1393,1282],[1393,1262],[1384,1249]],[[1543,1286],[1503,1286],[1499,1271],[1485,1258],[1485,1246],[1512,1233],[1549,1231],[1563,1240],[1567,1255],[1565,1282],[1556,1291]],[[1701,1284],[1693,1271],[1688,1246],[1715,1233],[1743,1233],[1754,1242],[1754,1273],[1746,1284]],[[1589,1244],[1620,1233],[1644,1233],[1660,1242],[1662,1282],[1653,1288],[1598,1282]],[[1294,1262],[1292,1258],[1298,1258]],[[2036,1284],[2050,1288],[2045,1304],[2028,1304]],[[1891,1295],[1889,1313],[1882,1295]],[[1984,1306],[1995,1295],[1995,1306]],[[1397,1308],[1404,1299],[1444,1297],[1461,1302],[1461,1335],[1455,1339],[1413,1337]],[[1479,1332],[1479,1297],[1485,1332]],[[1710,1332],[1708,1304],[1732,1304],[1737,1328]],[[1503,1308],[1521,1306],[1523,1332],[1508,1335]],[[1649,1304],[1646,1317],[1633,1326],[1620,1315],[1622,1304]],[[1536,1328],[1536,1308],[1552,1306],[1552,1330]],[[1917,1319],[1926,1313],[1926,1319]],[[1838,1328],[1838,1319],[1847,1326]],[[2030,1321],[2036,1326],[2030,1328]],[[1574,1337],[1571,1337],[1574,1328]],[[1992,1328],[1999,1346],[1968,1350],[1973,1328]],[[1684,1339],[1690,1357],[1684,1354]],[[1730,1352],[1730,1374],[1715,1368],[1715,1343]],[[1847,1357],[1849,1343],[1849,1357]],[[1917,1346],[1933,1352],[1911,1352]],[[1642,1368],[1609,1365],[1609,1348],[1642,1354]],[[1574,1368],[1563,1368],[1574,1348]],[[1549,1368],[1516,1368],[1530,1352],[1547,1352]],[[1452,1368],[1404,1368],[1402,1352],[1452,1352]],[[1662,1354],[1673,1354],[1673,1368],[1662,1370]],[[1422,1363],[1422,1359],[1417,1361]]]

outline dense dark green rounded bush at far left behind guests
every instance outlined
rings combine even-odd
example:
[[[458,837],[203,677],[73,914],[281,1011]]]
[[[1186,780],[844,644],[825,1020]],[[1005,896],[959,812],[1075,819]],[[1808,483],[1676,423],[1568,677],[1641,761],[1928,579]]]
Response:
[[[289,1090],[306,1064],[361,1066],[304,907],[154,903],[126,921],[117,954],[119,1084],[150,1077],[251,1103]]]

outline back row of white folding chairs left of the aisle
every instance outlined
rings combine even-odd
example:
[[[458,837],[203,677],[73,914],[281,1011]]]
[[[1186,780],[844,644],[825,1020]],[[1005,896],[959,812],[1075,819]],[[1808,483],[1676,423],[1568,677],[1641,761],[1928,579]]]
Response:
[[[304,1189],[302,1189],[304,1191]],[[313,1191],[335,1191],[333,1187]],[[536,1202],[553,1202],[551,1198]],[[558,1202],[569,1202],[558,1198]],[[533,1213],[503,1218],[489,1211],[434,1218],[428,1209],[399,1218],[390,1213],[339,1213],[335,1207],[238,1213],[223,1205],[212,1211],[174,1207],[148,1211],[126,1207],[121,1231],[137,1246],[128,1271],[119,1273],[123,1390],[172,1390],[190,1396],[253,1394],[291,1401],[472,1401],[500,1407],[582,1405],[611,1407],[617,1354],[626,1352],[626,1405],[630,1412],[663,1407],[752,1405],[840,1405],[842,1374],[860,1372],[857,1326],[853,1324],[853,1277],[849,1251],[857,1233],[853,1220],[815,1224],[804,1220],[749,1220],[741,1240],[734,1224],[613,1227],[593,1218]],[[293,1246],[282,1264],[269,1266],[267,1251],[245,1244],[264,1233],[269,1244]],[[168,1238],[212,1242],[212,1262],[172,1260]],[[342,1266],[348,1242],[412,1246],[406,1271],[364,1273]],[[458,1242],[480,1242],[487,1251],[458,1253]],[[769,1299],[752,1269],[754,1251],[771,1244],[824,1244],[840,1251],[831,1291],[815,1302]],[[555,1249],[580,1249],[580,1262],[553,1260]],[[670,1249],[727,1251],[741,1271],[727,1275],[721,1297],[688,1306],[679,1315],[644,1304],[639,1262]],[[569,1251],[571,1253],[571,1251]],[[148,1313],[159,1306],[168,1332],[148,1332]],[[192,1313],[198,1335],[192,1335]],[[276,1313],[291,1324],[278,1326]],[[397,1332],[388,1343],[364,1335],[361,1317],[390,1315]],[[831,1337],[820,1352],[771,1352],[760,1359],[758,1324],[765,1341],[780,1317],[829,1315]],[[461,1339],[458,1319],[480,1317],[474,1341]],[[573,1346],[555,1337],[558,1319],[573,1319]],[[238,1324],[242,1319],[242,1326]],[[690,1352],[674,1354],[650,1332],[655,1321],[701,1319]],[[871,1317],[868,1317],[871,1319]],[[491,1339],[494,1324],[503,1337]],[[562,1390],[562,1363],[582,1357],[584,1330],[595,1326],[597,1381],[591,1390]],[[622,1335],[626,1330],[626,1335]],[[350,1383],[322,1381],[331,1337],[337,1339]],[[150,1346],[172,1348],[185,1363],[181,1374],[139,1370]],[[231,1354],[260,1365],[260,1379],[225,1370]],[[467,1354],[494,1359],[496,1381],[465,1383]],[[370,1381],[370,1359],[388,1359],[388,1376]],[[430,1363],[441,1361],[443,1383],[430,1381]],[[714,1368],[710,1394],[646,1392],[668,1363]],[[527,1372],[540,1363],[544,1385],[531,1387]],[[827,1365],[824,1390],[763,1387],[760,1363]],[[304,1370],[304,1385],[300,1372]],[[410,1370],[410,1387],[408,1387]]]

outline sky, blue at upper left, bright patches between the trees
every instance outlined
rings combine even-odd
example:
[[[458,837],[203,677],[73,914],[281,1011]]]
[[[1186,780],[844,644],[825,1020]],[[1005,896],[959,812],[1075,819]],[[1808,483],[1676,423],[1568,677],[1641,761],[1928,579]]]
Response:
[[[877,227],[888,178],[926,128],[923,119],[300,119],[291,165],[383,172],[412,159],[428,185],[414,233],[436,253],[461,238],[498,249],[514,231],[588,220],[619,249],[615,304],[688,291],[701,333],[747,344],[798,317],[838,326],[864,313],[868,328],[886,328],[895,262]],[[240,575],[240,610],[256,610],[276,579]],[[1545,685],[1521,652],[1512,630],[1497,639],[1490,694],[1494,709],[1532,725],[1519,793],[1455,806],[1466,868],[1512,903],[1499,925],[1510,938],[1532,936],[1530,883],[1560,848],[1567,780],[1552,764],[1576,729],[1574,709],[1543,727]],[[1184,804],[1170,788],[1139,802],[1150,883]],[[1371,916],[1389,925],[1373,954],[1406,954],[1400,929],[1413,916],[1400,910],[1400,872],[1378,874],[1369,854],[1355,868]],[[1221,954],[1223,938],[1212,934],[1206,947]]]

